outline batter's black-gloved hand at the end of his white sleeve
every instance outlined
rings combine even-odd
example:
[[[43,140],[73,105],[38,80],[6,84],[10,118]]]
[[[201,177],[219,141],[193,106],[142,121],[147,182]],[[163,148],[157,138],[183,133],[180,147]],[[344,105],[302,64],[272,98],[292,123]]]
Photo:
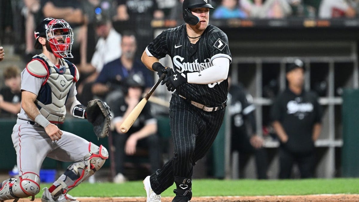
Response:
[[[171,68],[164,69],[163,72],[166,73],[166,77],[161,84],[166,83],[168,91],[173,92],[178,86],[187,83],[187,75],[185,73],[174,72]]]

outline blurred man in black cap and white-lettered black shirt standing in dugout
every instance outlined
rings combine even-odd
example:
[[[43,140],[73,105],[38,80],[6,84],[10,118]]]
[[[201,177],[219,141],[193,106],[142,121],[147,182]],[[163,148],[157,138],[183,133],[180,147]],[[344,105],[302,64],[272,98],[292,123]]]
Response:
[[[303,89],[304,66],[301,60],[286,67],[288,88],[271,109],[273,128],[280,140],[279,178],[290,178],[294,163],[301,178],[312,178],[316,153],[314,142],[321,132],[322,111],[318,97]]]

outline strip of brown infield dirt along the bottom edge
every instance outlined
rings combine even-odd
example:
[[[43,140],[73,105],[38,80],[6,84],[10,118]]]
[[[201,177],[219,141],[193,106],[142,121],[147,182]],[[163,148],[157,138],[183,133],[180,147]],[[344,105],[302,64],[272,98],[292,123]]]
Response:
[[[19,202],[29,202],[30,198]],[[146,198],[78,198],[80,202],[145,202]],[[171,202],[163,197],[162,202]],[[35,202],[41,202],[35,199]],[[193,197],[191,202],[359,202],[359,194],[307,195],[307,196],[251,196],[251,197]]]

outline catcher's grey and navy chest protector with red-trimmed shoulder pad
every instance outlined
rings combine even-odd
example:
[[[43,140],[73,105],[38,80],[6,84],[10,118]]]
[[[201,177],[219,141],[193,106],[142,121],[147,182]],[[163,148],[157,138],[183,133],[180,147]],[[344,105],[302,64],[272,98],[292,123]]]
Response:
[[[44,54],[40,54],[27,65],[27,71],[44,79],[35,101],[40,113],[51,123],[64,123],[70,88],[79,79],[76,66],[60,59],[60,68],[57,68]]]

